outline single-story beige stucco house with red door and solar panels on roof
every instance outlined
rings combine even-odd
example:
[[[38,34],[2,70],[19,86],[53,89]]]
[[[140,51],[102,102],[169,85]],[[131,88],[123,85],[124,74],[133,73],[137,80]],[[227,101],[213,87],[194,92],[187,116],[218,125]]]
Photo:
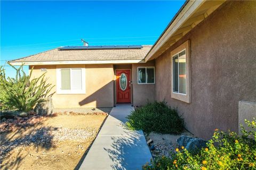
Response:
[[[209,139],[256,117],[256,1],[186,1],[151,46],[63,47],[11,61],[44,71],[54,107],[165,99]]]

